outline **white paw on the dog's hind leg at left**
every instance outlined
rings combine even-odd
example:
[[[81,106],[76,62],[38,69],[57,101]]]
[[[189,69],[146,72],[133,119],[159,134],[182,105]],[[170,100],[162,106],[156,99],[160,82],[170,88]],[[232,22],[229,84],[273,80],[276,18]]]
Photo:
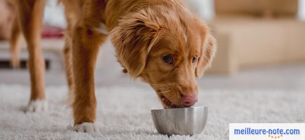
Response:
[[[27,105],[26,111],[29,112],[48,111],[48,102],[46,100],[30,101]]]

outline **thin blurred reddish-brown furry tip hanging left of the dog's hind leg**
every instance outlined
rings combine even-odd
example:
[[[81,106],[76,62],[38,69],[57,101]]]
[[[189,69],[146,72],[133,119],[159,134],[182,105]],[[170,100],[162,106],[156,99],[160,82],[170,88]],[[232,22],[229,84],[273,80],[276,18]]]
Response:
[[[12,31],[11,31],[11,37],[10,37],[10,48],[11,48],[11,66],[16,69],[20,67],[20,60],[19,60],[19,54],[20,54],[20,27],[18,24],[18,19],[15,17],[13,21]]]

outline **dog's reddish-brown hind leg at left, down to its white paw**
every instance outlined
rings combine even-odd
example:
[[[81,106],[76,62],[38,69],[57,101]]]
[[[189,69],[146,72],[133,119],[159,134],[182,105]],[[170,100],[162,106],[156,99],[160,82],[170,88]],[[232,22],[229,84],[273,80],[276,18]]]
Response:
[[[27,43],[27,67],[31,77],[31,98],[27,111],[46,111],[48,109],[44,93],[45,62],[40,47],[44,0],[17,2],[17,18],[21,32]]]

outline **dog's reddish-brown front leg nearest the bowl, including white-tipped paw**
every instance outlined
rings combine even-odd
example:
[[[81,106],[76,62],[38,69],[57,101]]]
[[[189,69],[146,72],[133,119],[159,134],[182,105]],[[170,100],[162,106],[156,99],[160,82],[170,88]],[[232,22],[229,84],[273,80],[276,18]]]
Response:
[[[80,132],[98,131],[96,119],[94,71],[99,46],[106,36],[89,25],[77,25],[73,32],[73,117],[74,130]]]

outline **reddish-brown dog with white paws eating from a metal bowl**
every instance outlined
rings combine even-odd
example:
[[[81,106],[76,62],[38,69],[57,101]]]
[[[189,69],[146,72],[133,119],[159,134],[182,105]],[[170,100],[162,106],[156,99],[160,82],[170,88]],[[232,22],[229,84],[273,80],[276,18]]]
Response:
[[[108,36],[124,72],[148,82],[165,108],[192,106],[197,101],[195,77],[201,77],[211,64],[216,40],[181,1],[61,1],[68,21],[64,54],[73,95],[74,130],[98,131],[94,125],[94,70],[99,46]],[[44,105],[38,107],[45,102],[44,61],[39,43],[44,0],[16,2],[16,25],[20,25],[29,51],[29,110],[45,109]],[[13,50],[20,33],[18,26],[14,29]]]

